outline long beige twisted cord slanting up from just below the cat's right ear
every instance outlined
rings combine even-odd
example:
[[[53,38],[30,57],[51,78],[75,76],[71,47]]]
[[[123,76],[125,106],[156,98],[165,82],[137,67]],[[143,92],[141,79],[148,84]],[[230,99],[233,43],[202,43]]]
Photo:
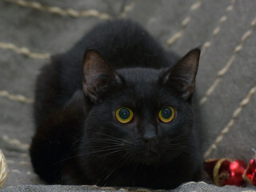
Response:
[[[221,78],[224,76],[224,74],[226,74],[226,72],[230,69],[230,66],[233,64],[234,59],[236,58],[236,55],[242,50],[243,44],[246,41],[247,38],[250,37],[250,35],[253,33],[254,31],[254,26],[256,25],[256,17],[254,18],[254,20],[250,23],[250,30],[247,30],[246,33],[244,33],[242,35],[242,38],[238,44],[238,46],[236,46],[234,48],[234,53],[233,55],[230,57],[230,59],[228,60],[228,62],[226,62],[226,65],[222,68],[222,70],[218,71],[217,74],[217,78],[214,80],[214,83],[210,86],[210,88],[206,91],[205,96],[200,100],[200,105],[204,104],[208,97],[210,96],[210,94],[212,94],[215,90],[215,88],[218,86],[218,83],[221,81]]]

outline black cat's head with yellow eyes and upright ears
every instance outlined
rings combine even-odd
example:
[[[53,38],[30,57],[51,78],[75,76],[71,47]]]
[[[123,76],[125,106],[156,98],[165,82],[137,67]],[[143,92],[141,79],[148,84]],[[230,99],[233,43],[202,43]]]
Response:
[[[194,49],[169,69],[115,71],[95,50],[87,50],[83,91],[91,106],[81,153],[153,163],[190,150],[199,56]]]

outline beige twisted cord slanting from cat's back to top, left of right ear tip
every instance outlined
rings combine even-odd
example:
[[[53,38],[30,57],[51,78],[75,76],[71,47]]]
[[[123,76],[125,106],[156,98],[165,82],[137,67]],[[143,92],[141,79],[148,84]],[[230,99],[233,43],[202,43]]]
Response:
[[[189,11],[189,14],[188,16],[186,16],[186,18],[184,18],[182,20],[182,23],[181,23],[181,29],[173,34],[170,38],[168,38],[166,40],[166,44],[167,46],[171,46],[172,44],[174,44],[174,42],[176,42],[179,38],[182,37],[182,35],[184,34],[184,31],[186,29],[186,26],[190,23],[191,21],[191,17],[190,17],[190,14],[194,11],[194,10],[197,10],[201,5],[202,5],[202,1],[203,0],[198,0],[198,2],[195,2],[192,6],[190,6],[190,11]]]

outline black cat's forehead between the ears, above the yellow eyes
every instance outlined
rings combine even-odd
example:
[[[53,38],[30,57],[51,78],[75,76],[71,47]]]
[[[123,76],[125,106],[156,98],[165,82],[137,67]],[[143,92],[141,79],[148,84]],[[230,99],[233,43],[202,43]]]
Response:
[[[162,104],[177,106],[174,90],[162,83],[164,70],[130,68],[117,70],[124,78],[122,91],[114,95],[114,103],[125,103],[139,109],[155,109]]]

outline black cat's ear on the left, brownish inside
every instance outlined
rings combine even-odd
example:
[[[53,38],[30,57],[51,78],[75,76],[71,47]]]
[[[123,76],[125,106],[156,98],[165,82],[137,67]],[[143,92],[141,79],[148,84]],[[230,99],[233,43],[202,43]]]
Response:
[[[86,50],[82,68],[82,89],[92,102],[96,102],[102,92],[111,85],[121,82],[118,74],[112,70],[106,60],[95,50]]]

